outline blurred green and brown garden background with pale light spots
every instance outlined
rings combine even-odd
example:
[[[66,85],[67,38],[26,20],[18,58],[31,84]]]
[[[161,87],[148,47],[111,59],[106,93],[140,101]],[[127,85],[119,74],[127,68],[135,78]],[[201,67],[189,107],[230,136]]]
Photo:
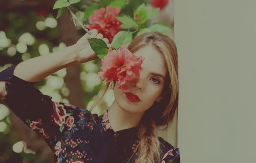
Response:
[[[171,2],[171,1],[170,1]],[[133,16],[134,10],[142,3],[147,7],[163,8],[156,18],[150,20],[164,22],[173,27],[173,1],[168,0],[128,0],[122,12]],[[49,54],[73,45],[85,34],[75,26],[67,12],[56,19],[58,10],[53,10],[55,0],[0,0],[0,71],[24,60]],[[76,17],[84,24],[87,5],[98,3],[97,0],[82,0],[74,4]],[[173,36],[173,31],[167,33]],[[36,84],[37,88],[53,101],[71,103],[88,109],[98,94],[101,79],[98,76],[100,60],[82,63],[79,66],[61,69]],[[27,71],[30,71],[29,69]],[[110,93],[105,105],[113,102]],[[104,108],[95,108],[100,114]],[[171,144],[176,146],[177,124],[169,132]],[[162,137],[167,139],[167,131]],[[21,122],[3,101],[0,101],[0,163],[52,163],[53,153],[46,143]]]

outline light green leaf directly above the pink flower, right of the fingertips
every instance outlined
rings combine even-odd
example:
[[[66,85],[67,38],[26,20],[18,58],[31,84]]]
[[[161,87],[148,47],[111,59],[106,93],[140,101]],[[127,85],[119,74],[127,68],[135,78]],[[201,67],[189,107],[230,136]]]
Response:
[[[128,45],[132,40],[132,33],[129,31],[120,31],[117,33],[112,41],[113,48],[118,49],[119,46]]]

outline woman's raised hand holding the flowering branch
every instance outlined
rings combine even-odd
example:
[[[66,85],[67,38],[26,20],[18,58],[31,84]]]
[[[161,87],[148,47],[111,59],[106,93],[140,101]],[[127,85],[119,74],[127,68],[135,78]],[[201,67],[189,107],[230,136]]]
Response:
[[[89,33],[91,33],[91,35]],[[103,35],[101,33],[98,33],[97,30],[90,30],[89,33],[86,33],[76,42],[76,44],[72,45],[72,51],[75,53],[78,63],[85,63],[98,58],[95,52],[91,49],[91,46],[87,39],[102,39],[104,42],[106,42],[108,47],[111,47],[108,39],[103,38]]]

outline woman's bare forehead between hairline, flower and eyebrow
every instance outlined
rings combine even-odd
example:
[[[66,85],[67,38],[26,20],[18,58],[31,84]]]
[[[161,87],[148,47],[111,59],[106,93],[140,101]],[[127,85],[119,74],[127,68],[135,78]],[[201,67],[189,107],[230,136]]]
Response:
[[[165,65],[164,57],[153,45],[147,45],[143,48],[140,48],[134,53],[134,55],[142,56],[145,58],[141,65],[143,70],[160,73],[164,76],[166,75],[167,68]]]

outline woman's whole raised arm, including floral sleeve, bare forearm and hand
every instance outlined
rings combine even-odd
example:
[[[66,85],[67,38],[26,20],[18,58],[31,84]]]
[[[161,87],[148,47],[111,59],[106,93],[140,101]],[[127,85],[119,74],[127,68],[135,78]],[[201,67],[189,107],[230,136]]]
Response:
[[[52,150],[56,141],[75,125],[80,112],[85,110],[52,101],[52,97],[42,94],[34,84],[59,69],[97,58],[87,37],[83,36],[64,50],[26,60],[0,72],[3,100],[15,115],[45,139]]]

